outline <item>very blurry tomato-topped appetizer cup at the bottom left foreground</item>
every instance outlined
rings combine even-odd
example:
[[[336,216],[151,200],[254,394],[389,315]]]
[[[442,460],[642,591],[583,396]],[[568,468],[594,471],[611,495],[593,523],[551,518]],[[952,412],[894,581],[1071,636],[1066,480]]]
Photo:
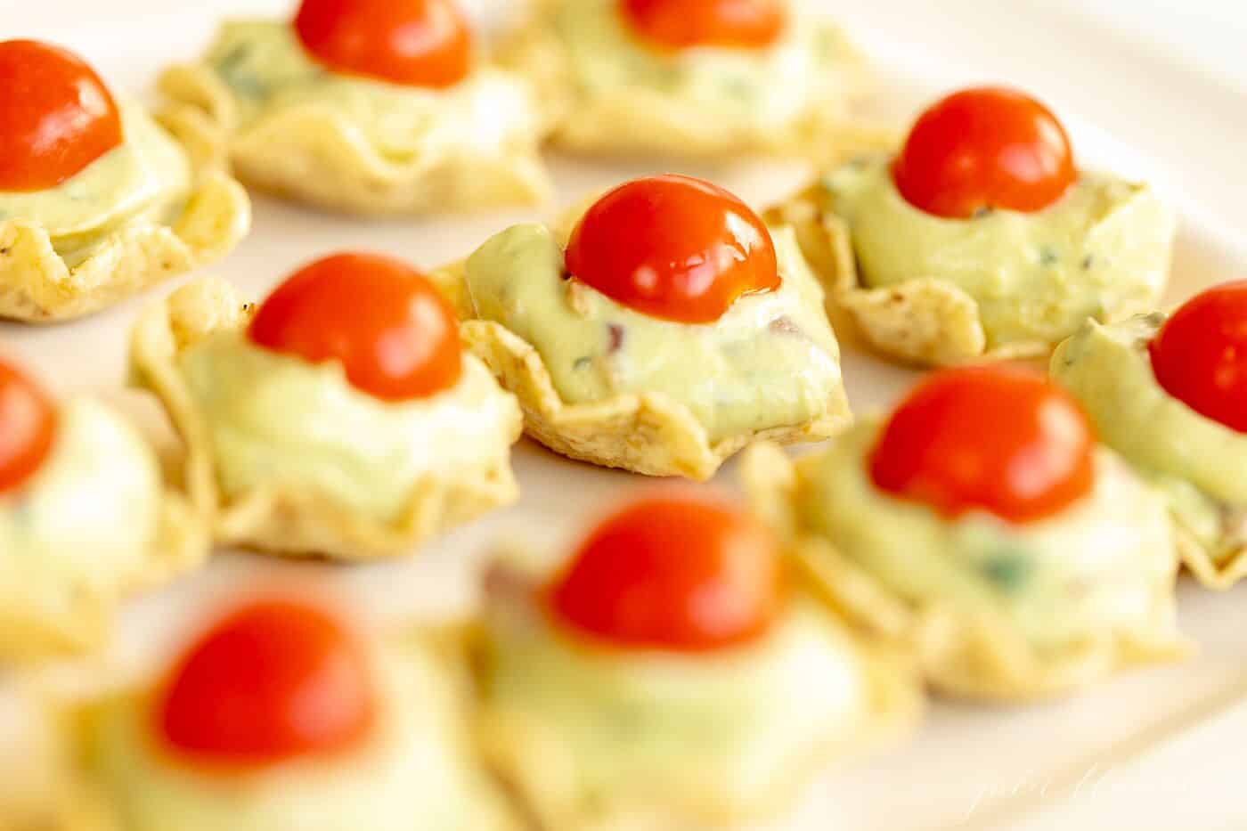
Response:
[[[410,639],[408,639],[409,641]],[[116,831],[503,831],[469,761],[461,676],[306,601],[222,618],[163,681],[86,707],[86,776]]]

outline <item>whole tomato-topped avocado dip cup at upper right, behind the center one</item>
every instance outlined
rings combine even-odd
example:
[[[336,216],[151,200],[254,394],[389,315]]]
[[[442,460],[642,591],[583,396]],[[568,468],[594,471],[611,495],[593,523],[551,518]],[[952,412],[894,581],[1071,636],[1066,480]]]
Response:
[[[1056,116],[1001,89],[943,99],[898,152],[768,218],[797,228],[867,341],[920,364],[1046,356],[1087,317],[1151,307],[1175,232],[1150,187],[1080,170]]]

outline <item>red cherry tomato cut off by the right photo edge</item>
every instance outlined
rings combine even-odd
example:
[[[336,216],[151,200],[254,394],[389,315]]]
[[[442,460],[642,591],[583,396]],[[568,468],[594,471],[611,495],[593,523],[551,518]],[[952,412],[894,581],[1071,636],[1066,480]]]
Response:
[[[1215,286],[1170,316],[1152,339],[1165,391],[1206,418],[1247,433],[1247,279]]]

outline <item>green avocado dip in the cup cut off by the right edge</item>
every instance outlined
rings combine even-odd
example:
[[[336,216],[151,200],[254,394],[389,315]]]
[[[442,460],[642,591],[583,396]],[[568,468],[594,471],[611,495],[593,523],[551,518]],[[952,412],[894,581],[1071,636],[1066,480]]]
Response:
[[[1247,435],[1206,418],[1156,381],[1147,344],[1163,313],[1089,321],[1052,356],[1051,374],[1082,404],[1100,439],[1153,479],[1218,559],[1247,542]]]

